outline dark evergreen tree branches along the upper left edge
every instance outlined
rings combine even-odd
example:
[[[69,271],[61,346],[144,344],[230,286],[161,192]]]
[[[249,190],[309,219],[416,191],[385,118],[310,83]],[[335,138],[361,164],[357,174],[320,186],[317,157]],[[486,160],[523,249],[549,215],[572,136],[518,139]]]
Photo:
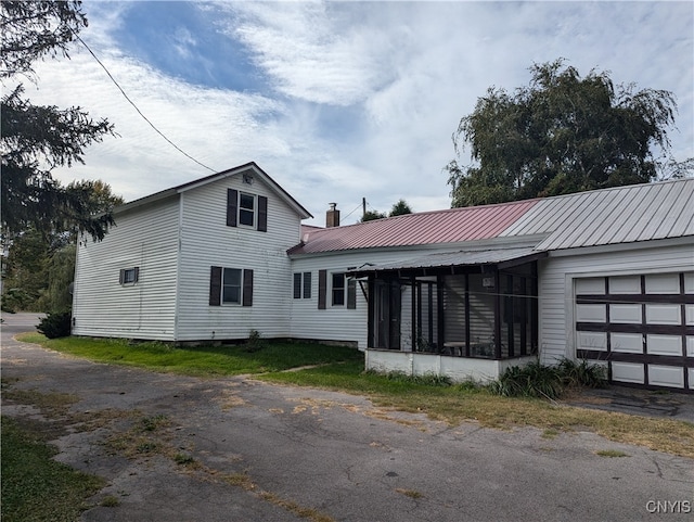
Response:
[[[31,78],[37,59],[67,56],[69,43],[87,26],[80,2],[2,1],[3,85],[17,76]],[[83,163],[85,148],[113,133],[105,119],[93,120],[80,107],[37,106],[16,85],[2,97],[2,211],[5,232],[31,226],[53,232],[76,228],[103,239],[113,225],[110,209],[94,216],[83,192],[61,187],[51,171]]]

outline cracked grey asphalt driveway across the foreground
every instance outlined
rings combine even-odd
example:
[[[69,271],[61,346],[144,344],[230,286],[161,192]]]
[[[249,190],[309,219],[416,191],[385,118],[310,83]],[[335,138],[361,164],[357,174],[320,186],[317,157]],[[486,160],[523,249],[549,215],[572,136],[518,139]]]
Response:
[[[55,422],[57,459],[108,481],[85,521],[631,522],[694,512],[690,459],[588,432],[547,440],[535,429],[450,426],[342,393],[93,364],[12,340],[36,321],[3,318],[9,390],[76,397],[61,419],[4,397],[2,412]],[[140,418],[167,420],[163,449],[114,450]],[[105,496],[118,505],[99,506]]]

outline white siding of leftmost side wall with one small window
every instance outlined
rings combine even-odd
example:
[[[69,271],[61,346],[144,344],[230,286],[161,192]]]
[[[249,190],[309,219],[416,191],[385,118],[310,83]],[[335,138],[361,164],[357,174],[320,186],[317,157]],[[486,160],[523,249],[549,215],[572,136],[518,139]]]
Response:
[[[174,339],[178,205],[176,199],[116,215],[102,242],[77,250],[73,333]],[[119,271],[139,267],[139,281],[119,283]]]

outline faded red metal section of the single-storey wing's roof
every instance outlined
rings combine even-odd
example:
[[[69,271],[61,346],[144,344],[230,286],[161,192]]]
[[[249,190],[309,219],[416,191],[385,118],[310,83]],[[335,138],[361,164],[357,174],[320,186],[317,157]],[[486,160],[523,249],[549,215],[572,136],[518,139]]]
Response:
[[[498,237],[539,200],[406,214],[311,231],[290,254],[459,243]]]

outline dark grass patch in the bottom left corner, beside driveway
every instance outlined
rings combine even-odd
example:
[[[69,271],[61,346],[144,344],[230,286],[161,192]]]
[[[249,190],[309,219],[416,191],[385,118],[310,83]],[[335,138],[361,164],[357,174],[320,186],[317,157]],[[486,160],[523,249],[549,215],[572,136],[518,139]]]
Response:
[[[3,522],[79,520],[105,481],[51,460],[56,453],[31,426],[2,417]]]

